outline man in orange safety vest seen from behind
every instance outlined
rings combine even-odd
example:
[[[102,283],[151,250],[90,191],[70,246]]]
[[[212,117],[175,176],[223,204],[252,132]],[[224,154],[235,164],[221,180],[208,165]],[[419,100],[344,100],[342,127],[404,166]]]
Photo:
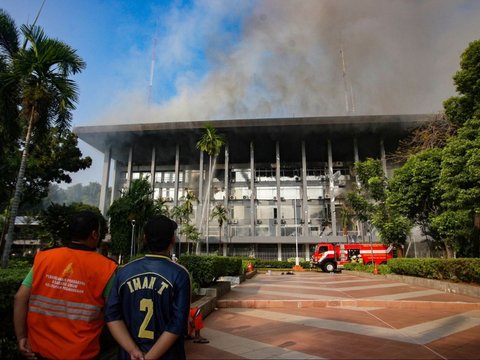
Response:
[[[99,215],[74,214],[69,231],[70,244],[35,256],[15,295],[18,348],[29,359],[92,359],[100,353],[102,312],[117,264],[96,252]]]

